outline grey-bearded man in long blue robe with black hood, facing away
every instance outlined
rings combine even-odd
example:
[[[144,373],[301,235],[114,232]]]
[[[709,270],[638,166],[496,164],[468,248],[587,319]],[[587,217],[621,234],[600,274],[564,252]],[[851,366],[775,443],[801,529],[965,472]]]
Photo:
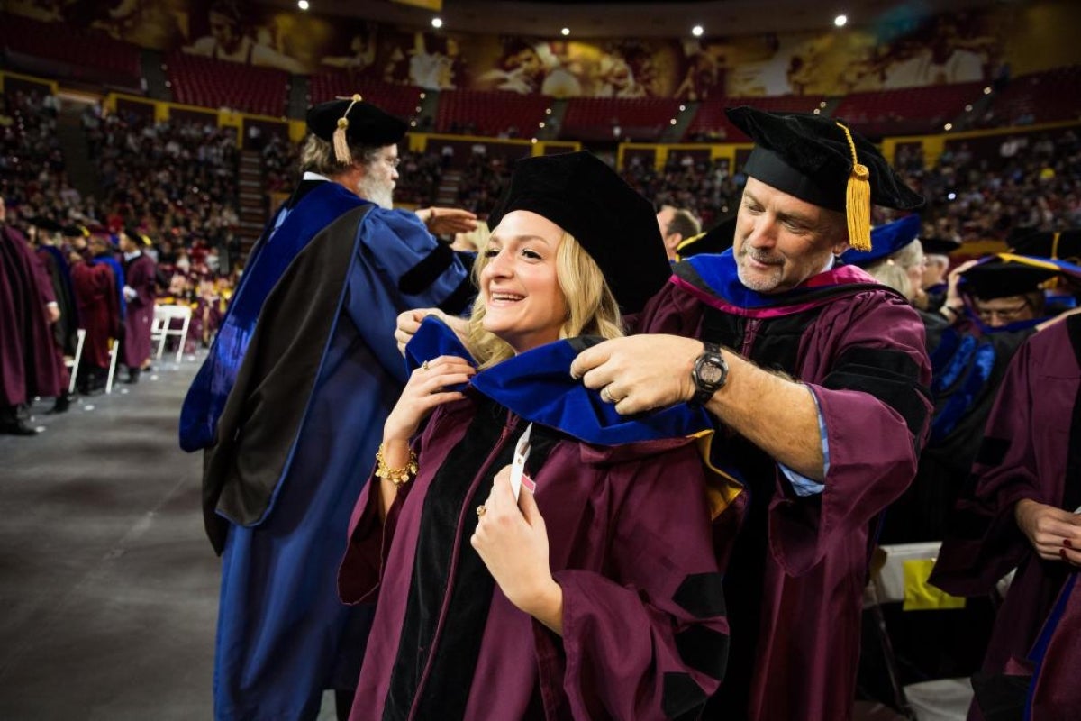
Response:
[[[432,226],[392,209],[405,122],[356,95],[312,107],[308,128],[304,178],[253,252],[181,416],[182,445],[205,449],[203,519],[222,555],[218,720],[315,719],[330,689],[348,709],[372,610],[342,605],[335,577],[406,380],[395,318],[458,313],[473,295]],[[452,231],[472,217],[439,214]]]

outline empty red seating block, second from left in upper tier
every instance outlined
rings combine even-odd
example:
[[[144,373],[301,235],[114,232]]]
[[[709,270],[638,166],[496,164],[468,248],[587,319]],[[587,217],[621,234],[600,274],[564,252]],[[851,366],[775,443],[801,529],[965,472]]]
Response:
[[[166,61],[173,99],[209,108],[285,115],[289,74],[213,57],[170,53]]]

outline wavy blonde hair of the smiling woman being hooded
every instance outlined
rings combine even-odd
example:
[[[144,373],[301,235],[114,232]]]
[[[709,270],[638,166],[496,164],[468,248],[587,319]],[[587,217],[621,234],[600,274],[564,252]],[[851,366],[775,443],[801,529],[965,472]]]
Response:
[[[488,245],[489,238],[484,238],[473,264],[473,281],[478,288],[481,272],[490,263]],[[599,335],[608,339],[624,334],[619,304],[605,282],[604,273],[582,244],[565,231],[556,250],[556,279],[566,303],[566,318],[559,331],[560,338]],[[484,330],[482,295],[478,295],[473,303],[466,345],[480,368],[495,365],[515,355],[510,344]]]

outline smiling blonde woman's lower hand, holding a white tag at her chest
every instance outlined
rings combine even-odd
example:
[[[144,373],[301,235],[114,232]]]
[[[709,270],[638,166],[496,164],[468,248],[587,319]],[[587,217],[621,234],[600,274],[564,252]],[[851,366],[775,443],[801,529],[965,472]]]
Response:
[[[496,473],[492,492],[478,511],[470,543],[495,583],[511,603],[562,633],[563,590],[551,577],[548,531],[530,491],[522,488],[515,503],[510,466]]]

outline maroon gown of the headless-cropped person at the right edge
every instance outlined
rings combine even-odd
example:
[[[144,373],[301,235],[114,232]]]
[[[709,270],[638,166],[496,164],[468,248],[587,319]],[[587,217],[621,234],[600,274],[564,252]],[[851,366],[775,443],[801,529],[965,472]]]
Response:
[[[1064,583],[1077,572],[1039,558],[1014,519],[1023,498],[1070,511],[1081,506],[1081,316],[1037,333],[1013,358],[931,575],[931,583],[950,593],[978,596],[1017,570],[984,657],[982,675],[990,683],[999,675],[1032,672],[1029,651]],[[1064,629],[1078,631],[1069,624]],[[1075,651],[1081,655],[1077,645]],[[1075,656],[1070,672],[1078,663]],[[1043,668],[1055,672],[1053,664]],[[976,703],[970,716],[980,718]]]

